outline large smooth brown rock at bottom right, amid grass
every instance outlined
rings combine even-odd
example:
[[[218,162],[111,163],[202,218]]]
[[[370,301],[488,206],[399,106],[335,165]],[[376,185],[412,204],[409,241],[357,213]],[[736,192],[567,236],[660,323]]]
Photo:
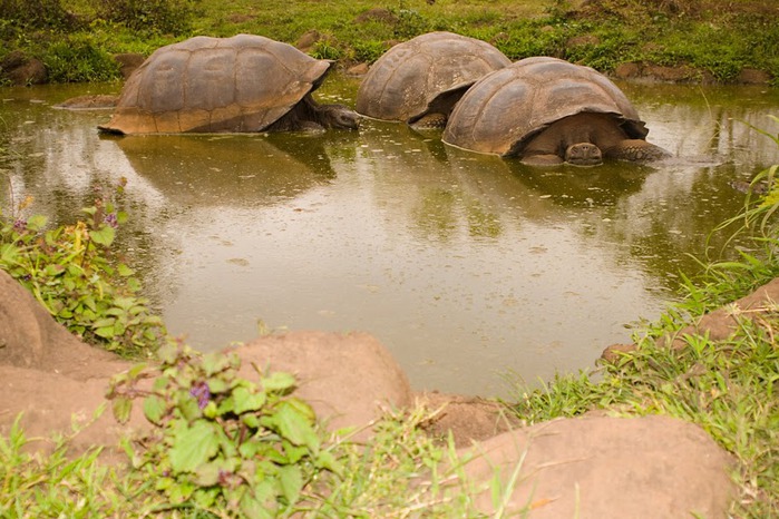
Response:
[[[488,488],[476,498],[487,516],[496,474],[509,492],[506,517],[528,510],[529,519],[726,518],[734,496],[727,452],[670,417],[555,420],[458,452],[475,457],[465,472]]]

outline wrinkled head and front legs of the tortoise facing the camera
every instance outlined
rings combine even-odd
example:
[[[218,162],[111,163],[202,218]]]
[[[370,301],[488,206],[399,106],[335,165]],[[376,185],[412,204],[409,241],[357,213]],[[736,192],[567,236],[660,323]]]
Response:
[[[597,166],[604,158],[653,161],[669,157],[663,148],[632,139],[608,114],[583,112],[547,126],[522,146],[516,155],[530,166]]]

